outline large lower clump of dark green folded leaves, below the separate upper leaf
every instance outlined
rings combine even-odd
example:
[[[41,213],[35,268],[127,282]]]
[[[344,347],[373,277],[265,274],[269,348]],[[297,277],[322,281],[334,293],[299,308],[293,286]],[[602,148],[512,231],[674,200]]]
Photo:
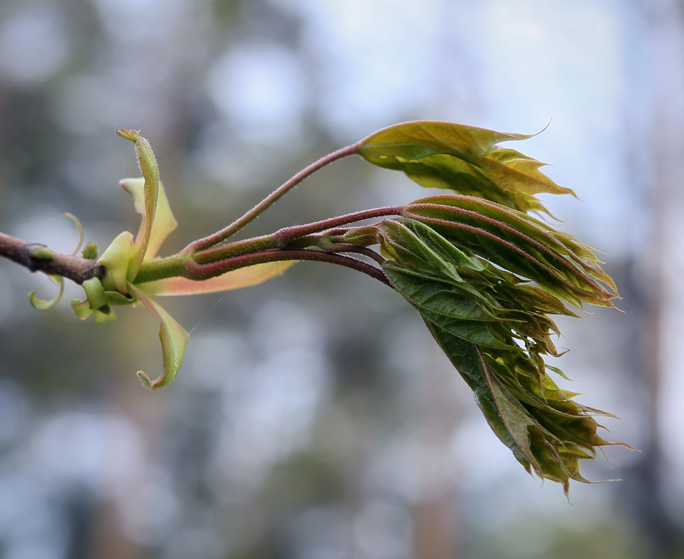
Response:
[[[562,300],[611,306],[616,296],[597,282],[614,289],[591,248],[521,212],[465,196],[415,201],[402,217],[352,229],[345,242],[380,244],[386,277],[419,311],[528,471],[562,483],[566,493],[568,480],[586,481],[579,459],[611,444],[596,434],[592,416],[609,414],[575,403],[542,356],[561,355],[549,315],[577,316]]]

